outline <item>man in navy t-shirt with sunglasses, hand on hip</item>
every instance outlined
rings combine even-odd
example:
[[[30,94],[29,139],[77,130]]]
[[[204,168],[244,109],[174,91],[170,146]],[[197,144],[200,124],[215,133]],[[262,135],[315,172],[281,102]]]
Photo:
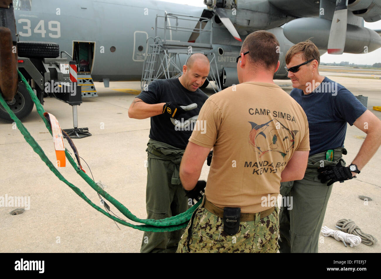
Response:
[[[302,180],[281,183],[280,193],[293,198],[281,207],[279,251],[318,252],[321,230],[332,184],[360,173],[381,144],[381,121],[344,86],[319,74],[319,49],[312,41],[292,46],[286,70],[293,97],[307,115],[310,153]],[[344,139],[347,123],[367,134],[359,153],[346,167]]]

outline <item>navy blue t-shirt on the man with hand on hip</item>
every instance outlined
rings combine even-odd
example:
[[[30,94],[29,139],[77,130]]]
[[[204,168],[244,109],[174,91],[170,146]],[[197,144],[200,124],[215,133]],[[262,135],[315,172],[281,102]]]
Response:
[[[309,156],[344,147],[347,123],[352,126],[367,110],[348,89],[327,77],[310,94],[294,88],[290,96],[307,115],[311,148]]]

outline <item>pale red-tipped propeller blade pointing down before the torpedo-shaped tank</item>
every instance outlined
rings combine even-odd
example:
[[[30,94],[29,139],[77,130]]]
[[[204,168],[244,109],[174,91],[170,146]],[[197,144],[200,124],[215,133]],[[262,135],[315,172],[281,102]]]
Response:
[[[348,0],[337,0],[335,13],[331,23],[328,39],[328,53],[342,54],[344,52],[347,32]]]

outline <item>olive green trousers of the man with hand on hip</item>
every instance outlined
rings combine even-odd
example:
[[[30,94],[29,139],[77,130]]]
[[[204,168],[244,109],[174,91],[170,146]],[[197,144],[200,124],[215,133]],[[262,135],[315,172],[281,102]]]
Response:
[[[333,161],[325,160],[325,152],[308,158],[306,173],[302,180],[280,183],[280,194],[291,200],[292,209],[281,206],[279,212],[279,252],[317,253],[319,233],[333,184],[321,183],[317,178],[319,166],[338,164],[346,155],[345,148],[336,148]],[[341,164],[345,162],[341,159]],[[334,183],[335,184],[335,183]]]

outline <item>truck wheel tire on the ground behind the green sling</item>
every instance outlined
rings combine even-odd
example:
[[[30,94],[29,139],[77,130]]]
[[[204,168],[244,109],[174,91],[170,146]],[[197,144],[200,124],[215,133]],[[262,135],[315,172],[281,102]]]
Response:
[[[19,89],[11,102],[6,102],[14,114],[22,119],[29,115],[33,109],[33,101],[30,97],[25,85],[19,82]],[[13,122],[11,116],[6,112],[5,108],[0,105],[0,119],[7,122]]]

